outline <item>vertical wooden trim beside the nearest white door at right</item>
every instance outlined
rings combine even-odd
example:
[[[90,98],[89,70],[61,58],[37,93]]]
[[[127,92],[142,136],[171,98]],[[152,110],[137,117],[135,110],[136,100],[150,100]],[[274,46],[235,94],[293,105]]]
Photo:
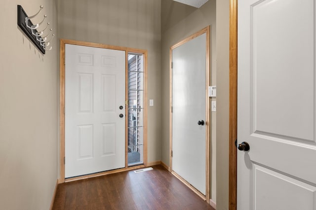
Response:
[[[237,4],[238,0],[230,0],[229,210],[237,210]]]

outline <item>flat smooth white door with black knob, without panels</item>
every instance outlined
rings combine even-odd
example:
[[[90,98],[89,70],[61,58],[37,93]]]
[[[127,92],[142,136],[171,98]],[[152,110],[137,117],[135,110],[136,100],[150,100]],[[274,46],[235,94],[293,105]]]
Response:
[[[172,49],[172,62],[172,171],[205,195],[206,34]]]

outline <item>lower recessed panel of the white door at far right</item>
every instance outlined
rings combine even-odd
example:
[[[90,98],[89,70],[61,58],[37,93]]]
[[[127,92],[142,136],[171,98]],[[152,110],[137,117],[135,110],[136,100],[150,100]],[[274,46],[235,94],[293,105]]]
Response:
[[[314,210],[316,187],[296,178],[253,165],[256,178],[253,210]]]

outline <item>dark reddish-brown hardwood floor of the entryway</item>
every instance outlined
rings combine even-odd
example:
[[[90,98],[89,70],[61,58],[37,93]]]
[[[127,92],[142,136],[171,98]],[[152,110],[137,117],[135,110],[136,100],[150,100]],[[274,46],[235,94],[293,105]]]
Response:
[[[59,184],[53,210],[214,210],[162,166]]]

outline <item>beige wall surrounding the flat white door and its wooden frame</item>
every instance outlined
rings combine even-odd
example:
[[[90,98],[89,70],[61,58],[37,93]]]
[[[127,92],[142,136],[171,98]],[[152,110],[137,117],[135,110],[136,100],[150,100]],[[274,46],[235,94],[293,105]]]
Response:
[[[161,161],[169,165],[169,49],[172,45],[210,26],[211,84],[216,85],[216,0],[195,8],[173,0],[161,0]],[[216,101],[216,98],[212,99]],[[216,202],[216,112],[211,112],[211,199]]]

